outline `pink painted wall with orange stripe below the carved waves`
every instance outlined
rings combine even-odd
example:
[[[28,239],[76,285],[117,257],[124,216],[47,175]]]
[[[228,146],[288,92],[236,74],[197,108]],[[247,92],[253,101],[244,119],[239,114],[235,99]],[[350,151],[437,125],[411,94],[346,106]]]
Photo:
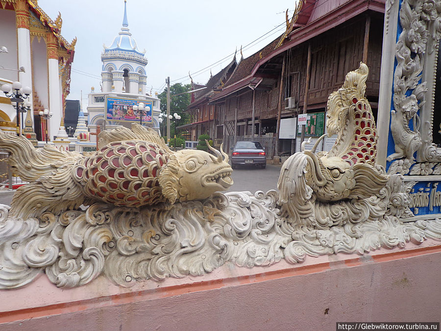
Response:
[[[441,245],[225,265],[203,277],[121,288],[100,277],[57,289],[45,276],[0,292],[0,330],[335,330],[335,322],[435,322]],[[326,313],[327,312],[327,313]]]

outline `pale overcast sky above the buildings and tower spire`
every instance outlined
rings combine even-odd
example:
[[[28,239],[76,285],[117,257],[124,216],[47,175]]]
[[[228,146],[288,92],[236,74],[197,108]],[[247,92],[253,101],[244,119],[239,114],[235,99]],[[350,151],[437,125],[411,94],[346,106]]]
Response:
[[[102,45],[110,46],[120,31],[124,1],[38,0],[38,4],[52,20],[61,12],[65,39],[77,37],[68,99],[80,99],[82,90],[86,107],[91,86],[99,91]],[[241,45],[248,57],[282,34],[288,8],[292,15],[295,1],[127,0],[128,27],[138,49],[147,51],[147,91],[153,87],[153,93],[161,92],[167,76],[172,84],[189,83],[189,71],[195,82],[206,83],[210,69],[196,72],[210,66],[215,75],[232,60],[236,47],[238,59]]]

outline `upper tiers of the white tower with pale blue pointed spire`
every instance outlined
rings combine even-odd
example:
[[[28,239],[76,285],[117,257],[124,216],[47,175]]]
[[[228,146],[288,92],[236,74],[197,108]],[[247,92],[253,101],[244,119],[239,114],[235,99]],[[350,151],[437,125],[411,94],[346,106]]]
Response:
[[[123,27],[109,47],[104,46],[101,54],[102,92],[125,92],[130,94],[146,94],[146,65],[144,57],[136,41],[129,32],[126,1],[124,0]]]

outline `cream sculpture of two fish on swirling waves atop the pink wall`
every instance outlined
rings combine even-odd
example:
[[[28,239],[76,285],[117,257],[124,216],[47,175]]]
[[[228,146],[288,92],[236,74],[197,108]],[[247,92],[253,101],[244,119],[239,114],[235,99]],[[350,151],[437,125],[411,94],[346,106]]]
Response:
[[[0,206],[0,288],[42,273],[59,287],[101,274],[130,286],[202,275],[226,262],[299,263],[441,239],[440,220],[400,221],[411,214],[410,187],[375,164],[367,76],[361,63],[328,100],[333,149],[290,156],[278,191],[267,193],[216,193],[232,184],[225,153],[173,153],[138,125],[103,131],[89,155],[35,150],[0,133],[14,172],[30,181],[10,208]]]

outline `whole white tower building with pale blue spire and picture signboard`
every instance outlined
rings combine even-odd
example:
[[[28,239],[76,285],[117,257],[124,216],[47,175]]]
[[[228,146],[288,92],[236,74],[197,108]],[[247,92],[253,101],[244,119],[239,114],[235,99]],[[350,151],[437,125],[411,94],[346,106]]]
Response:
[[[121,31],[101,53],[101,91],[96,92],[92,87],[89,94],[88,127],[92,132],[98,125],[111,129],[121,125],[130,127],[133,122],[159,130],[159,99],[146,92],[148,61],[145,54],[129,32],[124,1]],[[96,135],[92,136],[91,140],[95,141]]]

